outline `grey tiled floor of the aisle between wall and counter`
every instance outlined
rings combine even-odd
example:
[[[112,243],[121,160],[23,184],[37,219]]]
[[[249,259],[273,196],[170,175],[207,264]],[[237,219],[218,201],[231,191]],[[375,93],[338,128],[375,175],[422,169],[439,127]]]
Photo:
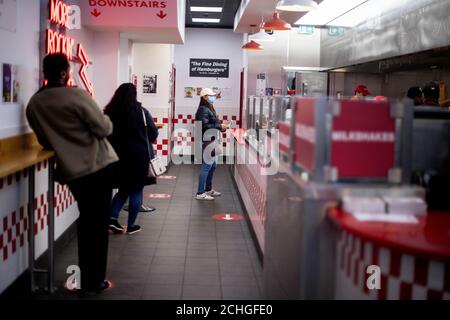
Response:
[[[198,166],[172,166],[168,175],[146,193],[170,194],[149,200],[154,215],[141,214],[143,231],[110,237],[108,275],[114,289],[99,299],[261,299],[262,269],[245,220],[215,221],[216,213],[243,214],[229,169],[220,166],[215,189],[223,195],[214,202],[193,198]],[[121,221],[125,223],[127,213]],[[56,281],[67,278],[67,266],[77,263],[73,241],[57,257]],[[59,298],[71,298],[60,292]],[[75,298],[75,297],[74,297]]]

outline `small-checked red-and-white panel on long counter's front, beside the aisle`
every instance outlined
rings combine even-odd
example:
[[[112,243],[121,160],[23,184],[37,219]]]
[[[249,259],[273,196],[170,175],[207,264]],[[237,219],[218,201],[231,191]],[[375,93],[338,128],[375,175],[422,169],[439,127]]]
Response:
[[[237,170],[244,183],[247,194],[253,203],[258,218],[264,226],[266,223],[267,208],[267,196],[265,190],[261,188],[261,184],[255,179],[247,165],[238,165]]]

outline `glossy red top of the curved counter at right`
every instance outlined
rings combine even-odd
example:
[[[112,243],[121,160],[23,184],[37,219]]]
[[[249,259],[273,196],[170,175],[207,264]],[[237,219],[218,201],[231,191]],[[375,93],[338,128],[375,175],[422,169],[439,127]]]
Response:
[[[340,209],[328,217],[340,228],[375,244],[411,255],[450,259],[450,212],[429,212],[417,224],[361,222]]]

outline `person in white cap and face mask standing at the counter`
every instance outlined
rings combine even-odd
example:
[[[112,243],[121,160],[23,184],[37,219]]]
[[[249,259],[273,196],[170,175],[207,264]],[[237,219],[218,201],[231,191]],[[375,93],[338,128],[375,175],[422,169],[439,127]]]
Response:
[[[214,109],[214,102],[217,99],[217,94],[213,90],[206,88],[202,90],[200,96],[200,105],[195,115],[195,120],[201,122],[202,125],[202,167],[200,169],[198,181],[198,192],[195,198],[201,201],[211,201],[214,200],[214,197],[221,196],[221,193],[212,188],[214,171],[217,167],[215,151],[213,150],[211,154],[205,154],[208,153],[208,151],[205,152],[205,149],[212,141],[214,141],[214,136],[217,137],[219,133],[225,132],[229,127],[220,124],[216,110]],[[208,133],[212,133],[212,138],[207,137],[205,133],[207,133],[207,135]]]

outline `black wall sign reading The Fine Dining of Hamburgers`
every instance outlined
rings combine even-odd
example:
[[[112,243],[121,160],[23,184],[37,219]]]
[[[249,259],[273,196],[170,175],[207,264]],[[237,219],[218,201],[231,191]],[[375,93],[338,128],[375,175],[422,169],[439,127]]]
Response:
[[[191,78],[229,78],[230,60],[191,59]]]

